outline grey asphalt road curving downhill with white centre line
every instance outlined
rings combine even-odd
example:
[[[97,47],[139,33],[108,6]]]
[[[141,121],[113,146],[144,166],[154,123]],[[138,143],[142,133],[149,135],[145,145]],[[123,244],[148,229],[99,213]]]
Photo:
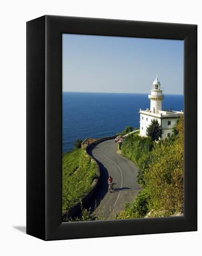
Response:
[[[94,197],[101,210],[97,207],[94,214],[101,215],[104,206],[104,216],[110,219],[124,209],[124,203],[133,202],[138,195],[141,189],[137,183],[138,168],[133,162],[116,153],[114,140],[97,144],[89,153],[101,168],[100,184]],[[112,176],[115,183],[112,193],[108,191],[108,176]],[[91,209],[93,208],[91,205]]]

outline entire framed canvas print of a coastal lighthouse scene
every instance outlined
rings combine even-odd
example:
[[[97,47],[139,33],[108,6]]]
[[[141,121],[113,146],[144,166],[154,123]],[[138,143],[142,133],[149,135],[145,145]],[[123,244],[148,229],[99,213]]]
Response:
[[[197,230],[197,26],[27,22],[27,234]]]

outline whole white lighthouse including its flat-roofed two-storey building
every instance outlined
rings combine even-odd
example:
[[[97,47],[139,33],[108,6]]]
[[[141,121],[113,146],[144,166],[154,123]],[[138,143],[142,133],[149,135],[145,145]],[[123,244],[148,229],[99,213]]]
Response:
[[[147,127],[151,124],[153,119],[158,120],[163,128],[162,138],[170,137],[172,135],[172,128],[175,127],[177,119],[179,119],[183,112],[181,111],[163,111],[162,100],[164,95],[161,90],[161,83],[156,76],[153,82],[151,94],[148,94],[150,100],[150,109],[142,110],[140,108],[140,135],[146,136]]]

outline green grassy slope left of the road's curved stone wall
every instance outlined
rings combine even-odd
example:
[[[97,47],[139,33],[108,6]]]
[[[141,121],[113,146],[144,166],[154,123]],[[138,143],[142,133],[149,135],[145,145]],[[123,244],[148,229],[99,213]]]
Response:
[[[96,164],[83,149],[62,155],[62,210],[68,210],[85,195],[96,176]]]

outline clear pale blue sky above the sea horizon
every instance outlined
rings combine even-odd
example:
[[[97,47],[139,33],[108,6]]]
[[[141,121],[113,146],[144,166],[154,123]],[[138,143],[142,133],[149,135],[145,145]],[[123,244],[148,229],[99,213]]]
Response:
[[[183,94],[183,40],[62,34],[63,91],[149,93],[156,74]]]

